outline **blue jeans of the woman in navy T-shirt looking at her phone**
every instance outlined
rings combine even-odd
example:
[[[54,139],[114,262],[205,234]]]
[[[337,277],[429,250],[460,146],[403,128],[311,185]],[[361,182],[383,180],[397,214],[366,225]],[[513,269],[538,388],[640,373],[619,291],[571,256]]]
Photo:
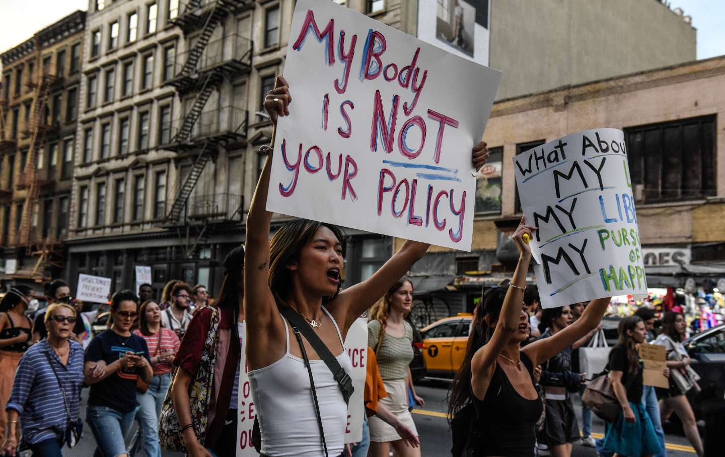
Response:
[[[107,406],[88,405],[86,422],[96,439],[94,457],[115,457],[128,453],[123,438],[135,414],[136,411],[121,413]]]

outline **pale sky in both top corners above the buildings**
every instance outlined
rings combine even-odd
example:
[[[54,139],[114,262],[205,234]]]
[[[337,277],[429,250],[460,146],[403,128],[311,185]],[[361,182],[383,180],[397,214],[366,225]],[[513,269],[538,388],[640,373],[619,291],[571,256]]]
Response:
[[[673,9],[680,7],[685,15],[692,16],[692,25],[697,28],[697,59],[725,54],[724,0],[668,1]],[[0,52],[76,9],[88,9],[88,0],[0,0]]]

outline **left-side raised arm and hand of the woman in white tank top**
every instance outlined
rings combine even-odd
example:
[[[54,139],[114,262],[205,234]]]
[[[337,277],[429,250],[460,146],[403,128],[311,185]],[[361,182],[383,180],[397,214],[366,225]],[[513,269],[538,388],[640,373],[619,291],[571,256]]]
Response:
[[[288,105],[292,101],[289,95],[289,84],[283,76],[278,76],[275,88],[267,94],[265,110],[270,115],[277,130],[279,116],[288,115]],[[274,136],[272,144],[274,144]],[[257,360],[260,348],[268,347],[270,334],[282,334],[284,324],[281,321],[277,306],[269,288],[269,262],[270,262],[270,221],[272,213],[267,210],[267,194],[272,170],[272,153],[265,162],[260,181],[252,197],[247,215],[247,239],[244,252],[244,303],[247,332],[249,332],[250,366],[263,366],[263,361]],[[284,341],[284,339],[282,339]]]

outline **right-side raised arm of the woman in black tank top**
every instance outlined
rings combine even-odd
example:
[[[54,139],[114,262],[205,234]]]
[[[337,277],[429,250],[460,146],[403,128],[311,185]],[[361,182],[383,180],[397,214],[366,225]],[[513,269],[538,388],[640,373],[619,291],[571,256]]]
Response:
[[[549,338],[539,339],[522,349],[534,365],[544,363],[571,346],[587,333],[595,330],[602,321],[611,297],[597,298],[589,302],[579,320]]]

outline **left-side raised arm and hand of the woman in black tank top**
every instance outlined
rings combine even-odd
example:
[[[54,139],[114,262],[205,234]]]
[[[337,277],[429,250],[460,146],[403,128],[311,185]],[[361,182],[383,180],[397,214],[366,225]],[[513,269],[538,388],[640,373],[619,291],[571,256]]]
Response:
[[[484,390],[488,387],[490,376],[493,374],[494,361],[505,345],[508,344],[511,335],[518,329],[518,325],[521,324],[523,289],[526,288],[526,272],[529,271],[529,264],[531,263],[531,248],[529,244],[523,241],[523,234],[528,234],[529,239],[531,239],[534,230],[536,230],[535,227],[526,226],[526,216],[523,216],[521,223],[513,233],[513,241],[518,248],[519,255],[518,264],[511,279],[512,285],[508,287],[506,292],[501,313],[491,339],[476,351],[471,360],[472,385],[481,385],[483,383]]]

